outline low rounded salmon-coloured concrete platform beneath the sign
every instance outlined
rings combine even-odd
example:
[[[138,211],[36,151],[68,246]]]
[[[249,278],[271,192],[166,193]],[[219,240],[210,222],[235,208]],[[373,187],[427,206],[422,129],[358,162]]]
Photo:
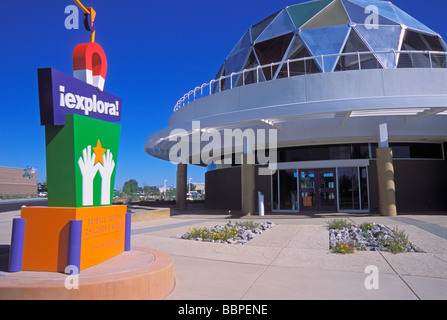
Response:
[[[0,256],[4,259],[8,255]],[[0,300],[161,300],[173,288],[172,257],[144,248],[132,248],[79,275],[0,272]]]

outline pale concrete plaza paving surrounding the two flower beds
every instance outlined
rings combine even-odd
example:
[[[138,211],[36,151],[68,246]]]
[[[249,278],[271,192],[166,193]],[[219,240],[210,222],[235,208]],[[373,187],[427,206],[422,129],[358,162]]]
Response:
[[[425,253],[331,253],[326,222],[333,217],[399,227]],[[447,299],[447,216],[241,219],[277,225],[244,245],[197,242],[172,237],[193,227],[226,223],[228,215],[176,214],[133,223],[132,246],[174,257],[176,286],[167,297],[171,300]],[[378,290],[365,288],[365,268],[370,265],[379,271]]]

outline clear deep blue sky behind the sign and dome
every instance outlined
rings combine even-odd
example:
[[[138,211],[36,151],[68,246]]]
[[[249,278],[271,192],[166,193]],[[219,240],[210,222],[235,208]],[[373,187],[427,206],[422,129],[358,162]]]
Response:
[[[146,138],[167,126],[177,100],[208,82],[247,28],[302,0],[82,0],[97,12],[96,41],[104,48],[105,90],[123,98],[115,187],[175,185],[176,166],[150,157]],[[395,5],[447,38],[447,3],[394,0]],[[0,166],[46,176],[45,132],[40,126],[37,69],[72,74],[74,47],[89,41],[82,24],[67,30],[71,0],[2,1],[0,19]],[[205,170],[188,167],[193,182]]]

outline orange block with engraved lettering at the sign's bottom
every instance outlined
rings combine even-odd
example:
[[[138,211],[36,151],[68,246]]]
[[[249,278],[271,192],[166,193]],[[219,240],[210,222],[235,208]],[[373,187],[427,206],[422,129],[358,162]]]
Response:
[[[22,270],[64,272],[70,220],[82,221],[80,269],[124,252],[126,206],[23,207],[26,219]]]

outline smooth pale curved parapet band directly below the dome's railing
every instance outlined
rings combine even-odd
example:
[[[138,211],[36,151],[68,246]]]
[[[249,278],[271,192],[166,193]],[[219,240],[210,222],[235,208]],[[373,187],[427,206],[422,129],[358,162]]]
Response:
[[[204,125],[330,111],[447,106],[447,69],[374,69],[318,73],[250,84],[196,100],[169,126]],[[216,121],[217,117],[217,121]]]

